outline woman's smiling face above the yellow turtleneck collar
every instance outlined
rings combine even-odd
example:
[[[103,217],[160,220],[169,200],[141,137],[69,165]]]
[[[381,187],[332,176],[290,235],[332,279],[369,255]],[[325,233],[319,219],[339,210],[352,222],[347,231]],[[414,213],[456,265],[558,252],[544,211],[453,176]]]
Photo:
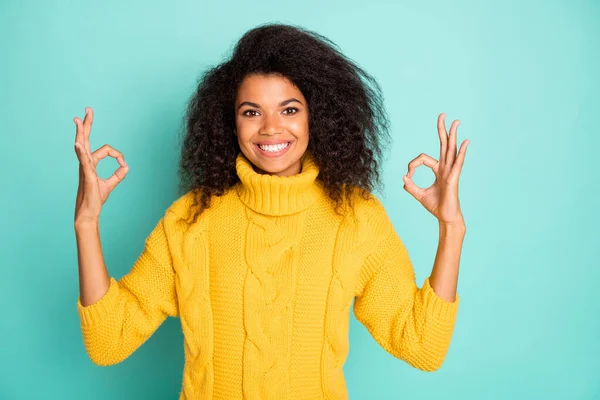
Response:
[[[247,76],[237,92],[235,124],[240,149],[256,172],[300,173],[308,147],[308,105],[287,78]]]

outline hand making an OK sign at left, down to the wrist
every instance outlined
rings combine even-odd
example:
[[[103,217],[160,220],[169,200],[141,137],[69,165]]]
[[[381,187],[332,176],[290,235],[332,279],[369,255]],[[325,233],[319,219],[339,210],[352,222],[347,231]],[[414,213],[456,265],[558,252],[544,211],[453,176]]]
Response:
[[[73,121],[77,127],[75,136],[75,153],[79,159],[79,187],[75,202],[75,222],[85,220],[98,220],[100,209],[108,199],[112,190],[127,175],[129,167],[121,152],[105,144],[93,153],[90,150],[90,133],[92,131],[93,110],[86,108],[83,121],[75,117]],[[120,167],[108,178],[100,179],[96,172],[98,162],[111,156],[116,158]]]

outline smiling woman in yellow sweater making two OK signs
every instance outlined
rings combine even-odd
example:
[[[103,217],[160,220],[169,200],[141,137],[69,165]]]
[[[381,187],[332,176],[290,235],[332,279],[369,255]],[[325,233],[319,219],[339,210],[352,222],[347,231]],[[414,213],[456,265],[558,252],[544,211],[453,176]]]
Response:
[[[431,275],[415,283],[408,252],[377,197],[388,121],[377,83],[326,38],[298,27],[247,32],[190,101],[184,193],[166,210],[119,281],[103,262],[100,209],[128,171],[111,146],[91,153],[93,112],[75,118],[75,210],[86,350],[118,363],[167,316],[178,316],[185,366],[180,399],[346,399],[349,310],[388,352],[439,368],[459,299],[465,224],[455,121],[438,118],[440,160],[421,154],[405,189],[439,221]],[[96,164],[121,167],[107,180]],[[427,189],[411,180],[431,167]]]

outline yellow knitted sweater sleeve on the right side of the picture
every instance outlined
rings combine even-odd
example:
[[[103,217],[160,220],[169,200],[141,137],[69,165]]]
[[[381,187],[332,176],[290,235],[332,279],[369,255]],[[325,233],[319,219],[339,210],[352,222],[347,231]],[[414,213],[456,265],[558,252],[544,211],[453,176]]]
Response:
[[[408,252],[383,217],[387,234],[365,260],[354,315],[387,352],[420,370],[435,371],[446,357],[460,298],[438,297],[429,277],[417,287]]]

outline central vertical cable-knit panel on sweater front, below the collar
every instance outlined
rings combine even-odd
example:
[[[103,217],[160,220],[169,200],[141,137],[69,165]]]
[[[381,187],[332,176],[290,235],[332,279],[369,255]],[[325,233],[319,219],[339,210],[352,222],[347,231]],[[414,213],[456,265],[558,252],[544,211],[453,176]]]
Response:
[[[289,398],[292,300],[298,257],[294,257],[303,214],[273,220],[248,211],[244,285],[244,395],[247,399]]]

